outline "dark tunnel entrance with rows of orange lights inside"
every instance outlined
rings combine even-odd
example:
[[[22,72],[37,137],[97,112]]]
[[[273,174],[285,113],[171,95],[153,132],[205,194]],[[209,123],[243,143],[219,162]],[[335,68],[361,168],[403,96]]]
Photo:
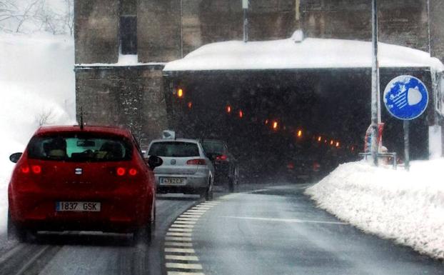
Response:
[[[426,69],[381,69],[380,89],[402,74],[430,87]],[[281,180],[298,158],[326,174],[363,151],[370,69],[181,71],[165,81],[170,128],[183,138],[226,141],[248,181]],[[402,121],[384,107],[382,115],[383,145],[402,158]],[[410,156],[427,159],[427,116],[411,129]]]

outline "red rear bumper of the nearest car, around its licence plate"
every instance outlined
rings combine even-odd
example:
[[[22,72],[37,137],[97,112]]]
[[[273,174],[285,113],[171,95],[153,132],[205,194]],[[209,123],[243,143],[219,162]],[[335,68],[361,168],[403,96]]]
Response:
[[[57,211],[56,201],[100,202],[100,211]],[[129,191],[100,194],[16,192],[9,198],[11,219],[35,231],[128,232],[151,221],[153,194]]]

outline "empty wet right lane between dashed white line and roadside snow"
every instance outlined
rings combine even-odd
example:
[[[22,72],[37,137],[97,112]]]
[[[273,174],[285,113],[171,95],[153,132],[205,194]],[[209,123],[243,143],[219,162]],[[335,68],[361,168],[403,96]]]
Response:
[[[317,209],[306,186],[228,195],[193,228],[193,249],[209,275],[444,274],[442,261],[364,234]],[[196,272],[196,270],[195,270]]]

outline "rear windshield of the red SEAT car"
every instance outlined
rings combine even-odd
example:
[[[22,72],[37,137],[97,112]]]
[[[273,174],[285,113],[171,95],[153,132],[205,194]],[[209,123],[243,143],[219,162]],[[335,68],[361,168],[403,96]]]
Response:
[[[29,159],[53,161],[125,161],[130,160],[130,141],[120,136],[57,134],[34,136],[29,142]]]

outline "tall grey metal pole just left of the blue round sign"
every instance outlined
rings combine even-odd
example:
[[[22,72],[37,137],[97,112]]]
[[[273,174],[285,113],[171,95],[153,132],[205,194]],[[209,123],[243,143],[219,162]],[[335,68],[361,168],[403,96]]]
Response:
[[[379,64],[378,64],[378,4],[372,0],[372,85],[371,85],[371,155],[378,166],[378,122],[380,122]]]

